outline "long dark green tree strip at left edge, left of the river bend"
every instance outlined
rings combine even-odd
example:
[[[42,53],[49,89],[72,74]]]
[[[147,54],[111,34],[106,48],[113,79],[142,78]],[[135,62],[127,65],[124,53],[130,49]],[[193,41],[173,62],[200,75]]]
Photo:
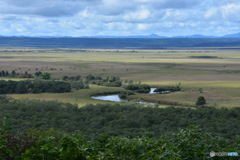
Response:
[[[60,81],[5,81],[0,80],[0,94],[12,93],[63,93],[70,92],[71,85]]]

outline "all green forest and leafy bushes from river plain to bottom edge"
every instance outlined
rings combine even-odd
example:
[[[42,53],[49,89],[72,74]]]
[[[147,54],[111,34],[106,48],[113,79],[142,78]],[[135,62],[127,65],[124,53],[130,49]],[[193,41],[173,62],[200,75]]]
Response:
[[[210,159],[240,152],[239,117],[239,108],[78,108],[0,96],[0,159]]]

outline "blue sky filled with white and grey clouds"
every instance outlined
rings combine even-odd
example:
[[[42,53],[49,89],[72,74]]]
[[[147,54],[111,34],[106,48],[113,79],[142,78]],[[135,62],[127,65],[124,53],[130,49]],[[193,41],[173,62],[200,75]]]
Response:
[[[0,35],[131,36],[240,32],[240,0],[0,0]]]

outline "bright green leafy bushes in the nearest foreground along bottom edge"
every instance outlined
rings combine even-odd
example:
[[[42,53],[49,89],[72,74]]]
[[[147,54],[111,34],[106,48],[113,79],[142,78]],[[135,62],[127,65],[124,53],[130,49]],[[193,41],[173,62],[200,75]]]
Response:
[[[80,132],[63,134],[53,129],[13,133],[6,123],[0,131],[0,159],[202,160],[210,159],[211,151],[240,151],[239,138],[233,141],[214,137],[196,126],[157,139],[149,133],[134,138],[102,135],[91,139]]]

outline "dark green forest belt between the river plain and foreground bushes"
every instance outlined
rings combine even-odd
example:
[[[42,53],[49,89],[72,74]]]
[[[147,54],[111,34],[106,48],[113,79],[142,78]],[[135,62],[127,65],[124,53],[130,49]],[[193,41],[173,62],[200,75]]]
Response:
[[[17,101],[2,96],[0,119],[4,116],[11,117],[16,130],[46,130],[53,127],[65,132],[80,130],[89,136],[105,133],[137,136],[146,131],[159,136],[191,124],[225,137],[234,137],[240,132],[239,108],[156,108],[135,103],[98,104],[78,108],[76,105],[56,101]]]

